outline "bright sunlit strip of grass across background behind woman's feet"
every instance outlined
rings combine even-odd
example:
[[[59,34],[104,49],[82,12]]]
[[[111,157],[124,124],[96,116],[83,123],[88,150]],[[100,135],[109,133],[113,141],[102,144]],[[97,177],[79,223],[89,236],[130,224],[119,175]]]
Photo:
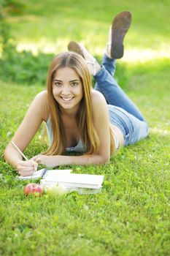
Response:
[[[90,45],[88,39],[83,41],[83,44]],[[67,44],[69,39],[58,39],[56,42],[50,42],[45,38],[42,38],[39,42],[20,42],[17,45],[18,52],[23,50],[31,51],[35,56],[42,53],[59,53],[61,51],[67,50]],[[90,50],[93,52],[94,56],[101,56],[104,53],[104,48],[91,46]],[[134,62],[146,62],[150,60],[157,59],[168,59],[170,57],[170,46],[161,45],[158,50],[152,50],[151,48],[125,48],[125,55],[123,61],[128,63]]]

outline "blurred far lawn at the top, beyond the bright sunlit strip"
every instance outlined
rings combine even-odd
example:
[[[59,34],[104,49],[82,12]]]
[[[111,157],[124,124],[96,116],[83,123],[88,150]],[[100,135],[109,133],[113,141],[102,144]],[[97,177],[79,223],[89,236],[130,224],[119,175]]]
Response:
[[[103,49],[109,23],[122,10],[130,10],[133,23],[128,32],[128,48],[159,50],[169,47],[169,1],[163,0],[25,0],[23,15],[7,18],[17,42],[53,45],[57,53],[66,50],[70,39],[82,40],[90,50]]]

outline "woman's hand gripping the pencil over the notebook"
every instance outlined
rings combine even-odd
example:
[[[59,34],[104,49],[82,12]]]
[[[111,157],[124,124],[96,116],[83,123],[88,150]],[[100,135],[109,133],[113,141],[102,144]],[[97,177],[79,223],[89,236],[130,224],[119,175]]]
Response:
[[[21,176],[26,177],[26,176],[31,176],[37,170],[37,167],[38,167],[38,163],[33,160],[30,160],[30,161],[20,160],[18,162],[18,165],[16,166],[16,169],[18,170],[18,173]]]

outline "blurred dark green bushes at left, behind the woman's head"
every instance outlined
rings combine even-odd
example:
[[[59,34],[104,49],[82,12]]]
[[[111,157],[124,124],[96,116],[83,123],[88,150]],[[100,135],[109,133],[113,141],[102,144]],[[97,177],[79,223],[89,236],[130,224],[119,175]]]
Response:
[[[25,50],[18,53],[7,23],[9,16],[23,15],[25,7],[21,0],[0,0],[0,77],[5,82],[32,85],[39,81],[45,85],[48,63],[53,55],[33,56]]]

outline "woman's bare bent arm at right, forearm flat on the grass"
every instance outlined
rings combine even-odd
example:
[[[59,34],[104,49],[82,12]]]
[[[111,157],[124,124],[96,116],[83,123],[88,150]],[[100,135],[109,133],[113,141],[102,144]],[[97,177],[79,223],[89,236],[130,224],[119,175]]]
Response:
[[[82,156],[45,156],[33,157],[34,161],[55,167],[58,165],[90,165],[104,164],[110,158],[109,114],[107,102],[98,91],[92,91],[93,124],[98,133],[100,148],[98,154],[84,154]]]

